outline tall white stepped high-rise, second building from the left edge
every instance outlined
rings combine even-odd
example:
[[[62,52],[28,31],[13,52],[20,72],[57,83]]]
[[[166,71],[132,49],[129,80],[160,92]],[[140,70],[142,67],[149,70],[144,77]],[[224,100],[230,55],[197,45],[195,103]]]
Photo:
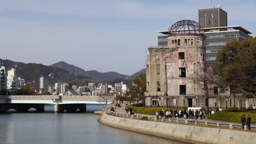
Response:
[[[19,88],[19,79],[16,76],[16,70],[12,68],[8,70],[8,74],[7,74],[7,89],[11,94],[15,94],[18,88]]]

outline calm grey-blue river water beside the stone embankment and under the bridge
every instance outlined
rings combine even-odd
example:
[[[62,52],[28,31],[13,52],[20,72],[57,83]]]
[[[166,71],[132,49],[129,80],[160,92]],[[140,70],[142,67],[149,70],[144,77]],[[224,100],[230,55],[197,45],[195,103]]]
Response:
[[[88,111],[103,106],[88,105]],[[183,143],[156,136],[108,127],[93,113],[54,113],[53,105],[44,113],[1,113],[0,143]]]

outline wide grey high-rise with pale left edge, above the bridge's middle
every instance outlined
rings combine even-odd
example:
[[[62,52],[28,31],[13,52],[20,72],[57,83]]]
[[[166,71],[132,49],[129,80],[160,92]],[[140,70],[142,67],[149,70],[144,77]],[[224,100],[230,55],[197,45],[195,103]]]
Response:
[[[48,87],[54,87],[55,83],[62,83],[61,77],[54,77],[53,75],[49,75],[48,77],[41,76],[40,77],[40,91],[48,91]]]

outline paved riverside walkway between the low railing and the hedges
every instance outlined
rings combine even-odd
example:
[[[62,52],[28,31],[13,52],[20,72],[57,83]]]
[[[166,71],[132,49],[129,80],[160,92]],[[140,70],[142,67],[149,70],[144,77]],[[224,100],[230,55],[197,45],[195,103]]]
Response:
[[[130,105],[128,105],[130,106]],[[121,107],[116,107],[115,112],[118,113],[126,113],[125,111],[125,104],[121,104]],[[129,114],[129,113],[128,113]],[[146,116],[146,117],[155,117],[155,115],[146,115],[146,114],[141,114],[141,113],[135,113],[135,115],[138,116]],[[160,117],[160,116],[159,116]],[[159,118],[160,119],[160,118]],[[173,119],[185,119],[185,118],[173,118]],[[188,119],[189,121],[195,121],[195,119]],[[220,123],[220,124],[234,124],[234,125],[241,125],[242,128],[242,124],[241,123],[232,123],[232,122],[225,122],[225,121],[217,121],[217,120],[212,120],[212,119],[197,119],[197,122],[208,122],[208,123]],[[211,124],[212,125],[212,124]],[[256,124],[253,123],[251,124],[251,127],[255,127],[256,128]]]

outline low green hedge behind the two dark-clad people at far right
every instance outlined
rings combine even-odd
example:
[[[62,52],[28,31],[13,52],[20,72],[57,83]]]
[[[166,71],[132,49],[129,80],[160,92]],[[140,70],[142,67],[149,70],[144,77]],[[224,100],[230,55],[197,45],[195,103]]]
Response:
[[[230,111],[237,111],[237,112],[230,112]],[[245,112],[240,112],[245,111]],[[256,113],[247,112],[248,110],[224,110],[216,112],[212,115],[208,115],[208,119],[214,119],[219,121],[227,121],[227,122],[236,122],[241,123],[241,118],[243,115],[247,116],[250,115],[251,122],[256,123]]]

